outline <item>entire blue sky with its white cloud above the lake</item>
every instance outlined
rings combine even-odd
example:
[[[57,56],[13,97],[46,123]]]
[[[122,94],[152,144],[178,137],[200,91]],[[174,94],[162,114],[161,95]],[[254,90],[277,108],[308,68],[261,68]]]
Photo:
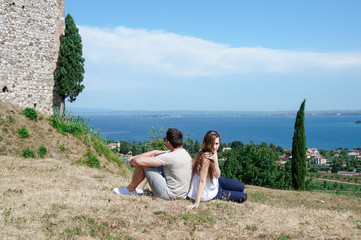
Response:
[[[361,110],[359,0],[65,0],[85,89],[70,108]]]

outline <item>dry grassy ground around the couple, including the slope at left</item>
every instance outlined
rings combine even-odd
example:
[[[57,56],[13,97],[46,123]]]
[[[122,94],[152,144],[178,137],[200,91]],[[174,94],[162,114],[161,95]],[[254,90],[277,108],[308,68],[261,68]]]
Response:
[[[35,122],[0,104],[0,239],[361,238],[355,197],[247,186],[244,204],[216,200],[188,212],[190,201],[165,201],[149,191],[115,195],[112,189],[130,180],[122,165],[99,155],[94,143],[59,133],[46,117]],[[22,126],[31,136],[25,140],[18,137]],[[22,156],[23,148],[36,152],[40,145],[48,149],[44,158]],[[79,164],[88,148],[100,168]]]

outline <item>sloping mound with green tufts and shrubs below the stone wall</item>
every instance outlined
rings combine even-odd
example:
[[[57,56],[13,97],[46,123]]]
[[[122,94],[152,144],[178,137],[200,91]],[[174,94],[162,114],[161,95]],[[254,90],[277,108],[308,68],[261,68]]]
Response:
[[[70,113],[48,118],[33,108],[0,102],[0,155],[70,159],[90,167],[127,172],[124,160],[106,145],[104,137],[85,119]],[[117,167],[114,166],[117,165]],[[124,172],[125,171],[125,172]]]

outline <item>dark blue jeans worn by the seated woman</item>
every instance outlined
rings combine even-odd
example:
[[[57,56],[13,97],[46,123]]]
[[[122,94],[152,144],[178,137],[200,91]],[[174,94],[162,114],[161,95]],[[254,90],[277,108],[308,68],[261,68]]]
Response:
[[[247,200],[247,194],[243,192],[245,186],[242,182],[222,176],[218,178],[218,182],[218,193],[213,199],[222,199],[234,202],[245,202]]]

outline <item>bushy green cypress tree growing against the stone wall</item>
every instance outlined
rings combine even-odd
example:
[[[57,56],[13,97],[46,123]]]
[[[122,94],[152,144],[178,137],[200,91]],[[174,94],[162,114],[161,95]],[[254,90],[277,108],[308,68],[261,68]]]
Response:
[[[74,102],[84,89],[84,85],[81,84],[85,72],[84,61],[79,29],[68,14],[65,18],[65,34],[60,44],[55,85],[56,91],[63,99],[63,104],[66,98],[69,102]],[[63,110],[64,105],[61,107],[61,111]]]

